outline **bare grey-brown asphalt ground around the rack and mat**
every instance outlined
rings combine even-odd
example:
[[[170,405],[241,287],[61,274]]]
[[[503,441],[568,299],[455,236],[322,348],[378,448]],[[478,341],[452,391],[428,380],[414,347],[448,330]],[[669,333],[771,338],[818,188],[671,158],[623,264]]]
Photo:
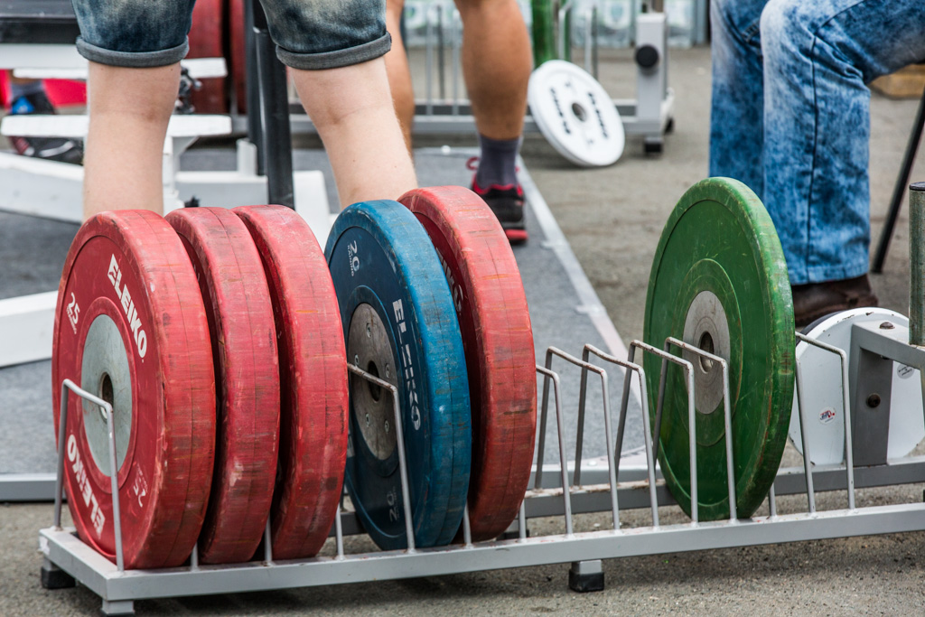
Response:
[[[602,58],[600,80],[615,97],[632,96],[634,68],[625,52]],[[677,93],[675,130],[665,152],[651,157],[629,140],[614,166],[576,169],[539,139],[524,142],[524,162],[624,340],[642,333],[648,270],[664,220],[685,189],[707,174],[709,51],[671,58]],[[882,226],[916,101],[871,101],[871,222]],[[427,144],[424,141],[425,145]],[[430,143],[431,145],[433,142]],[[925,166],[913,179],[925,179]],[[883,306],[907,310],[907,217],[901,216],[886,273],[873,285]],[[920,450],[921,447],[919,447]],[[785,464],[798,464],[788,449]],[[858,505],[918,501],[922,486],[858,491]],[[820,497],[820,509],[843,507],[844,495]],[[805,498],[781,498],[782,512]],[[0,506],[0,614],[90,615],[99,598],[85,588],[46,591],[39,584],[37,530],[50,524],[48,504]],[[686,519],[663,508],[663,523]],[[606,526],[609,514],[576,518],[576,529]],[[646,524],[624,512],[624,524]],[[925,528],[925,521],[922,522]],[[559,520],[531,522],[534,535],[561,533]],[[362,537],[351,549],[371,549]],[[884,614],[925,613],[925,533],[805,541],[743,549],[614,559],[604,562],[607,587],[579,595],[567,588],[567,566],[425,577],[216,597],[139,601],[140,615],[269,614]]]

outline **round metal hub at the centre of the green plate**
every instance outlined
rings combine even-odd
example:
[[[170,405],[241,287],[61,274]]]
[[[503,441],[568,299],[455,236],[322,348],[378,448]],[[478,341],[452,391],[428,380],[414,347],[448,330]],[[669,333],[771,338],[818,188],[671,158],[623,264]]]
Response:
[[[722,302],[712,291],[701,291],[688,307],[684,341],[729,362],[729,322]],[[722,402],[722,366],[695,352],[684,352],[683,357],[694,364],[694,402],[697,412],[715,412]]]

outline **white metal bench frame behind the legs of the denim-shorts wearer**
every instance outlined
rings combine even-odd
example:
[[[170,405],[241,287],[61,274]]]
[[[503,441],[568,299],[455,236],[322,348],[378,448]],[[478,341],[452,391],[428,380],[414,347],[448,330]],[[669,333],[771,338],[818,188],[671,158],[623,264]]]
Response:
[[[74,45],[0,44],[0,68],[13,68],[29,78],[85,79],[87,61]],[[184,60],[195,79],[227,74],[222,58]],[[83,140],[86,116],[6,116],[0,134],[24,137],[65,137]],[[164,212],[183,207],[193,198],[202,206],[237,207],[265,204],[265,176],[257,175],[256,146],[237,145],[237,168],[229,171],[182,171],[180,155],[200,137],[230,135],[227,116],[175,115],[170,117],[164,142]],[[332,216],[324,174],[318,170],[293,175],[295,209],[324,246]],[[0,210],[80,223],[83,167],[0,153]],[[0,367],[51,357],[56,291],[0,300]]]

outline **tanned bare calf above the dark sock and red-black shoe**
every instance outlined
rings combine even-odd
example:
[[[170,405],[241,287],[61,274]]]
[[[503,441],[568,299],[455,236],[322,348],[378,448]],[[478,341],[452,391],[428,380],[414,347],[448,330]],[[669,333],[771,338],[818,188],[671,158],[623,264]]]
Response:
[[[524,130],[526,86],[533,60],[516,0],[456,0],[462,17],[462,76],[475,126],[493,140]]]

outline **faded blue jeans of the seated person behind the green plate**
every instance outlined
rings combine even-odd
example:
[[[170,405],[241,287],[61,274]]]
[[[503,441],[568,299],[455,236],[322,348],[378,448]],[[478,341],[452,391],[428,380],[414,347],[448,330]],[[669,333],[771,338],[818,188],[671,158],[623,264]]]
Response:
[[[767,206],[790,282],[868,271],[870,90],[925,60],[925,0],[712,0],[709,175]]]

